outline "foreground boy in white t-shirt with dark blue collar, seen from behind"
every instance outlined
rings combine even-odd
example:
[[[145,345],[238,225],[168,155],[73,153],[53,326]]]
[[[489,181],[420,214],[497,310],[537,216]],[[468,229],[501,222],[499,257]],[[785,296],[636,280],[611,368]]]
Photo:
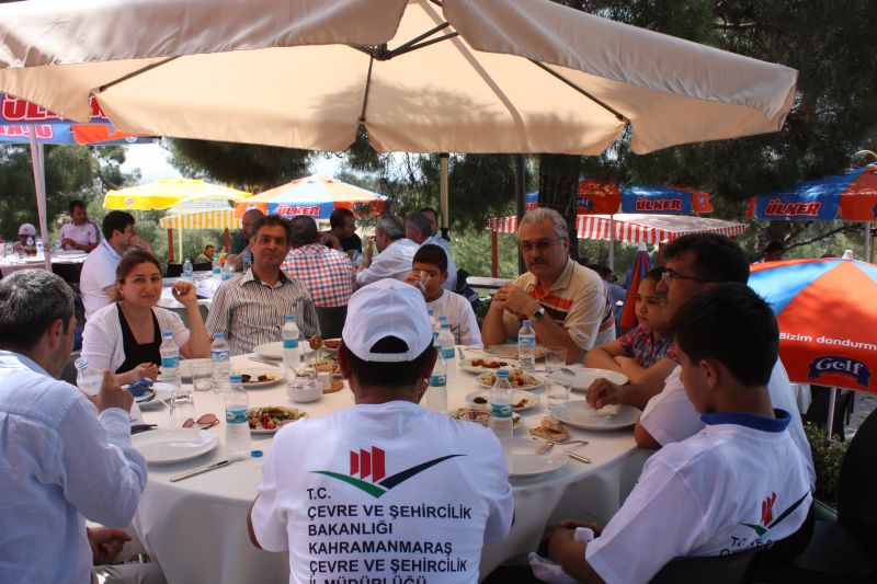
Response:
[[[600,537],[566,519],[551,558],[584,582],[648,582],[676,557],[716,557],[779,541],[804,524],[807,467],[789,412],[767,391],[779,346],[771,308],[742,284],[717,284],[673,317],[682,382],[706,427],[656,453]]]

